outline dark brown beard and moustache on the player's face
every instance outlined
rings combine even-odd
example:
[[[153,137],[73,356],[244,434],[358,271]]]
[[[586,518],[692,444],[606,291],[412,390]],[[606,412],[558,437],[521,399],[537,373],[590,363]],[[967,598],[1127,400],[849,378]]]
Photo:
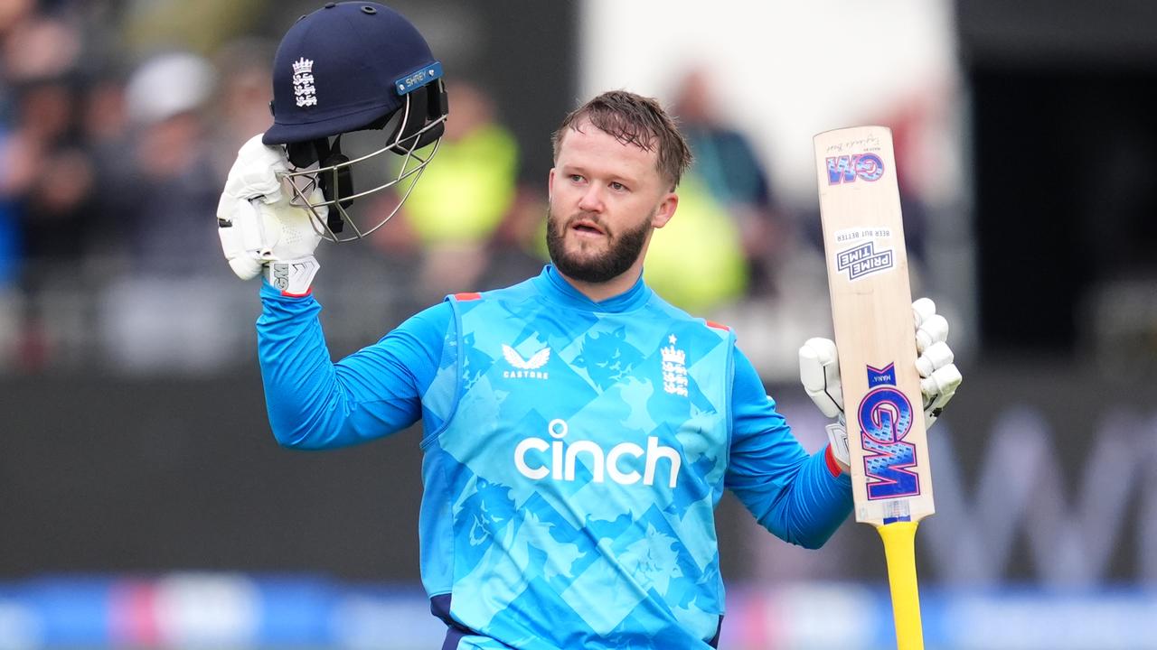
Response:
[[[551,261],[554,267],[567,278],[580,282],[600,283],[607,282],[622,275],[631,268],[631,265],[642,254],[647,244],[647,235],[650,232],[650,217],[646,219],[638,228],[632,228],[621,234],[614,234],[607,229],[606,224],[596,221],[603,228],[604,237],[607,241],[606,250],[602,252],[585,252],[582,244],[576,244],[577,251],[567,250],[566,235],[570,229],[570,223],[587,217],[578,213],[563,221],[555,217],[550,208],[546,209],[546,250],[551,253]]]

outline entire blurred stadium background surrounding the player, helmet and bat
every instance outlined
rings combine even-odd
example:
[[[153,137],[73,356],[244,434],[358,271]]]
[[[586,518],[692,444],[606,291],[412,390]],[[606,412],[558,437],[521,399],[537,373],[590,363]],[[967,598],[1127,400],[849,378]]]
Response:
[[[441,643],[420,433],[279,449],[257,286],[215,234],[277,42],[319,3],[0,0],[2,649]],[[796,368],[831,332],[811,136],[887,125],[913,291],[965,376],[916,542],[928,647],[1157,648],[1157,3],[391,5],[451,116],[405,214],[319,250],[336,357],[536,273],[550,135],[627,88],[697,156],[649,281],[731,325],[819,449]],[[869,527],[808,552],[730,496],[718,527],[722,648],[892,644]]]

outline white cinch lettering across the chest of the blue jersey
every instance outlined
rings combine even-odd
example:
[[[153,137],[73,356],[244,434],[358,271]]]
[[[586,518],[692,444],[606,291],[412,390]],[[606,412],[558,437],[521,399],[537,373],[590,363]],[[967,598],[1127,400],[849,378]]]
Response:
[[[585,453],[590,459],[591,481],[604,482],[607,478],[611,481],[629,486],[642,481],[644,486],[655,485],[655,473],[659,460],[666,459],[668,487],[675,488],[679,478],[679,467],[683,458],[673,448],[658,444],[657,436],[647,437],[647,449],[633,443],[625,442],[604,451],[591,441],[576,441],[570,444],[563,442],[570,428],[566,420],[554,419],[546,426],[546,431],[553,441],[545,438],[524,438],[514,449],[514,465],[518,473],[528,479],[540,481],[547,477],[555,481],[574,481],[575,465],[578,455]],[[634,458],[634,461],[625,459],[625,456]],[[639,466],[642,460],[642,474],[632,466]],[[624,466],[627,467],[624,471]]]

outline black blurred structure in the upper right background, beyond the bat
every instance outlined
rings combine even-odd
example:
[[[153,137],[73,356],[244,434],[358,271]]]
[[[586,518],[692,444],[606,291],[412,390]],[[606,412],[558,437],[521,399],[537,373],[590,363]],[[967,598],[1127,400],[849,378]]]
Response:
[[[1108,347],[1099,296],[1157,281],[1157,3],[959,0],[957,20],[985,349]]]

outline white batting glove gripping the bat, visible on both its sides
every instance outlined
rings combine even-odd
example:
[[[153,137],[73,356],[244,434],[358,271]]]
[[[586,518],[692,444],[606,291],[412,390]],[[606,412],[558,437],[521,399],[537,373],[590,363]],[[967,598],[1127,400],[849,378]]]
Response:
[[[936,303],[920,298],[912,303],[916,326],[916,371],[923,398],[924,427],[930,427],[944,405],[960,385],[960,370],[948,347],[948,320],[936,313]],[[838,422],[827,426],[828,442],[835,460],[847,467],[850,463],[848,435],[843,419],[843,387],[840,383],[840,362],[835,342],[831,339],[808,339],[799,348],[799,381],[808,397],[828,418]]]

